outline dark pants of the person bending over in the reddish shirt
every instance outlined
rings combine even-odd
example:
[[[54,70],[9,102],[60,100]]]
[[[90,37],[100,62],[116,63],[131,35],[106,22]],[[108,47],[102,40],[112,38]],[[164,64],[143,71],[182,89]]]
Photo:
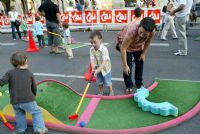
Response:
[[[140,60],[140,55],[142,54],[142,51],[138,52],[126,52],[127,54],[127,64],[130,68],[130,74],[126,75],[123,73],[124,77],[124,83],[126,85],[126,88],[133,88],[133,81],[132,81],[132,67],[133,67],[133,57],[135,62],[135,85],[137,88],[143,85],[142,83],[142,75],[143,75],[143,64],[144,61]]]

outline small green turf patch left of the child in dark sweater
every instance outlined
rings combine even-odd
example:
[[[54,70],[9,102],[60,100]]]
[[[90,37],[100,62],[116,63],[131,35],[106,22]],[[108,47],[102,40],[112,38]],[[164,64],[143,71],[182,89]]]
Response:
[[[2,96],[0,96],[0,111],[10,103],[9,94],[6,91],[8,91],[7,85],[0,87],[0,92],[2,93]]]

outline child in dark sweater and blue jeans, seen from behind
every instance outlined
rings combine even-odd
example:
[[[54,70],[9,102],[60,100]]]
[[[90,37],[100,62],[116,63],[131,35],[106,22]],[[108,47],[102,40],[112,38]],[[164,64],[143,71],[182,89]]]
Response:
[[[26,132],[27,112],[32,115],[34,132],[38,134],[47,133],[48,130],[45,127],[42,112],[35,101],[37,87],[34,75],[28,69],[27,56],[22,52],[16,52],[12,54],[10,62],[14,69],[8,71],[0,79],[0,86],[8,84],[10,103],[16,116],[16,132]]]

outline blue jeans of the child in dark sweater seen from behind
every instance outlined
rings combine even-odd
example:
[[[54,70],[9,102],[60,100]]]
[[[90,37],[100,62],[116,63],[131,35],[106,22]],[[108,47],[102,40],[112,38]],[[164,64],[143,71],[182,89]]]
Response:
[[[34,132],[45,129],[45,124],[37,103],[35,101],[13,105],[16,115],[16,131],[25,132],[27,129],[26,112],[32,115]]]

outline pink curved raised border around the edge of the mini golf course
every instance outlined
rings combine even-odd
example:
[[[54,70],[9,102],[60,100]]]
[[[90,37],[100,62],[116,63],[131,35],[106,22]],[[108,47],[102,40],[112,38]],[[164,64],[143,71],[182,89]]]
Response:
[[[39,82],[38,84],[44,83],[44,82],[57,82],[59,84],[62,84],[66,87],[70,88],[69,86],[67,86],[64,83],[55,81],[55,80],[44,80]],[[158,83],[154,82],[154,84],[152,86],[150,86],[148,89],[151,91],[153,90],[156,86],[158,85]],[[74,90],[73,90],[74,91]],[[75,92],[75,91],[74,91]],[[77,93],[77,92],[75,92]],[[77,93],[78,94],[78,93]],[[80,95],[80,94],[79,94]],[[92,97],[93,95],[89,95],[88,97]],[[129,97],[133,97],[131,95],[122,95],[121,97],[117,97],[119,99],[122,98],[129,98]],[[104,98],[104,96],[102,97],[102,99]],[[111,99],[113,99],[114,97],[111,97]],[[108,98],[104,98],[104,99],[108,99]],[[195,116],[196,114],[198,114],[200,112],[200,102],[197,103],[197,105],[195,107],[193,107],[190,111],[188,111],[186,114],[179,116],[176,119],[164,122],[164,123],[160,123],[158,125],[153,125],[153,126],[147,126],[147,127],[142,127],[142,128],[133,128],[133,129],[123,129],[123,130],[100,130],[100,129],[91,129],[91,128],[81,128],[81,127],[76,127],[76,126],[68,126],[65,124],[60,124],[60,125],[56,125],[54,123],[49,123],[49,122],[45,122],[46,126],[48,128],[54,129],[54,130],[58,130],[58,131],[65,131],[65,132],[73,132],[73,133],[87,133],[87,134],[138,134],[138,133],[154,133],[154,132],[158,132],[173,126],[176,126],[190,118],[192,118],[193,116]],[[15,118],[12,116],[6,116],[6,118],[10,121],[15,121]],[[30,120],[29,120],[30,123]]]

